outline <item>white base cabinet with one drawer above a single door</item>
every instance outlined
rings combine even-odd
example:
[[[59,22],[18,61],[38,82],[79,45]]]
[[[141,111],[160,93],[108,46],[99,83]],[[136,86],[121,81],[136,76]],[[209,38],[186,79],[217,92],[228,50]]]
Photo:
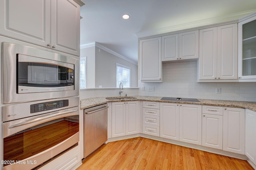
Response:
[[[202,146],[222,150],[223,107],[202,106]]]

